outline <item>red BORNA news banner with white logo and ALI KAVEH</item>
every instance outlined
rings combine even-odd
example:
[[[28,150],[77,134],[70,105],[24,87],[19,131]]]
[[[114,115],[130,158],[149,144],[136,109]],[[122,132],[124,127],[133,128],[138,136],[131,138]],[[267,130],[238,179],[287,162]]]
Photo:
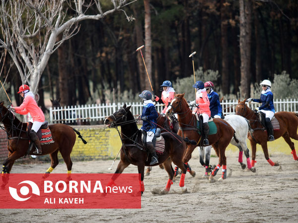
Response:
[[[139,174],[73,173],[68,178],[67,174],[51,173],[47,176],[1,174],[2,183],[8,182],[0,190],[0,208],[141,208]]]

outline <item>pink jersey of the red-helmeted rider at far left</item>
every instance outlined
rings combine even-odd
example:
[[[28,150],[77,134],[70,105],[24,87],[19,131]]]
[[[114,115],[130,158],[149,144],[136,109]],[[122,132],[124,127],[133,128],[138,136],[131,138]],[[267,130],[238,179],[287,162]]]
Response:
[[[42,110],[38,107],[36,101],[30,96],[27,95],[24,98],[23,103],[19,107],[14,107],[15,112],[19,114],[27,114],[30,112],[33,121],[45,121],[45,115]]]

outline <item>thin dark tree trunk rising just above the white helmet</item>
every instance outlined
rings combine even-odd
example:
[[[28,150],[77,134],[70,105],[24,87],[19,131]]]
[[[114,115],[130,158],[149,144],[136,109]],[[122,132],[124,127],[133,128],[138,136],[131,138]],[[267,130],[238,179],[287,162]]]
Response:
[[[254,4],[255,7],[257,7]],[[254,8],[254,30],[255,30],[255,40],[256,40],[256,82],[261,83],[262,79],[262,62],[261,62],[261,44],[260,44],[260,35],[259,35],[259,18],[258,12]]]

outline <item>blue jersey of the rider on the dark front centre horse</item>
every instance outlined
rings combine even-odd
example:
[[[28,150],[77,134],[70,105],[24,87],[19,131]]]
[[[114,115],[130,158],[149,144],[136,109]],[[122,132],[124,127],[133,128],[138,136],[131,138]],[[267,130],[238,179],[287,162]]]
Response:
[[[146,132],[152,131],[155,133],[158,113],[153,104],[149,103],[144,106],[141,117],[144,116],[147,116],[147,120],[143,121],[143,126],[141,129],[145,130]]]

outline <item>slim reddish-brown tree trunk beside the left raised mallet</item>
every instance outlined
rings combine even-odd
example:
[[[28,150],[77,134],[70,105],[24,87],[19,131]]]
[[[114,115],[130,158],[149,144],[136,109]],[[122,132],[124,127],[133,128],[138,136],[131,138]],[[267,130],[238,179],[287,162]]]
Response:
[[[151,60],[151,15],[150,0],[144,0],[145,8],[145,63],[149,78],[146,80],[146,89],[151,91],[150,81],[152,79],[152,60]],[[146,74],[147,75],[147,74]],[[152,83],[151,83],[152,84]]]

